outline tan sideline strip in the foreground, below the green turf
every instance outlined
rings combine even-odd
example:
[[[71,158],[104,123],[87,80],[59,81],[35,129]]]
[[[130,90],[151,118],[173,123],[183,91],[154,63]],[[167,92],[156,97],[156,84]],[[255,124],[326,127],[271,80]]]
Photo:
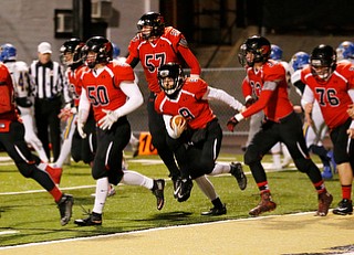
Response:
[[[260,216],[0,248],[39,254],[354,254],[354,217]]]

